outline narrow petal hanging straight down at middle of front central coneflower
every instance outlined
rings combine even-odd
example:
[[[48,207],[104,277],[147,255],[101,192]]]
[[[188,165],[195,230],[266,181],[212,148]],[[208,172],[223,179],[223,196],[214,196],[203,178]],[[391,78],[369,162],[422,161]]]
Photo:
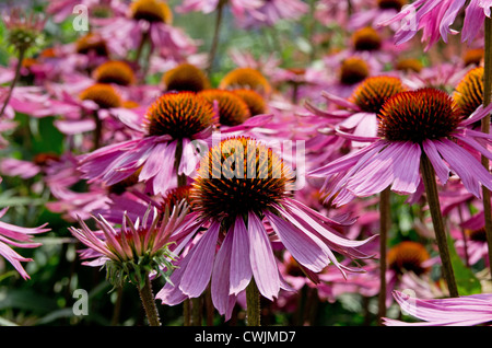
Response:
[[[234,229],[227,234],[232,234],[232,254],[231,254],[231,294],[238,294],[246,289],[251,280],[251,265],[249,263],[249,241],[248,231],[243,218],[236,218]]]

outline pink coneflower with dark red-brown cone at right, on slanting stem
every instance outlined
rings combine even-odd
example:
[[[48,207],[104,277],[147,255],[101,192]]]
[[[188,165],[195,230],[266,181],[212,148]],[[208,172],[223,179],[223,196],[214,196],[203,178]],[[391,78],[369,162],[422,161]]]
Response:
[[[492,187],[492,175],[475,155],[482,153],[492,158],[487,149],[492,138],[468,126],[491,109],[491,106],[479,106],[465,118],[444,91],[421,89],[398,93],[388,98],[378,113],[377,137],[356,137],[371,140],[370,144],[311,174],[326,178],[329,188],[325,188],[329,192],[328,198],[335,197],[335,205],[355,196],[367,197],[387,187],[398,194],[413,194],[421,183],[421,158],[426,155],[443,185],[454,172],[468,192],[481,197],[480,187]]]

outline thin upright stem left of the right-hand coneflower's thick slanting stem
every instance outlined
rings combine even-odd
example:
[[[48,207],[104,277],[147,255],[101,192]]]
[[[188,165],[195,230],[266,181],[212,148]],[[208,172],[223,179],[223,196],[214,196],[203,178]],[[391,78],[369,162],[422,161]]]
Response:
[[[386,247],[389,228],[391,225],[390,216],[390,189],[385,188],[379,196],[379,298],[378,317],[386,316]]]

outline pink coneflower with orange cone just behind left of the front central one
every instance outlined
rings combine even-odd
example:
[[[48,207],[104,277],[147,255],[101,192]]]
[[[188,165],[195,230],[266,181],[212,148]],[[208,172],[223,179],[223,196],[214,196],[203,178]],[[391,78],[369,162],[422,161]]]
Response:
[[[177,186],[177,175],[195,170],[198,154],[188,144],[211,135],[213,107],[196,93],[169,92],[149,107],[141,124],[129,126],[138,138],[82,155],[84,178],[110,186],[140,170],[139,181],[153,194],[164,194]]]

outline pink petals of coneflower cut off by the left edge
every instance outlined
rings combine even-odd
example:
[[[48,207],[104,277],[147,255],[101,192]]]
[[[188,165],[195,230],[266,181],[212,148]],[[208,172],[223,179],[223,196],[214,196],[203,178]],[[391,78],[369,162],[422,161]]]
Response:
[[[0,178],[1,181],[1,178]],[[3,208],[0,211],[0,218],[2,218],[8,208]],[[30,275],[22,267],[21,262],[32,262],[32,258],[22,257],[16,252],[14,252],[10,245],[16,247],[38,247],[40,243],[33,242],[33,234],[44,233],[50,231],[50,229],[45,229],[46,224],[38,228],[21,228],[14,224],[0,221],[0,255],[7,258],[8,262],[15,267],[19,274],[24,279],[30,279]]]

